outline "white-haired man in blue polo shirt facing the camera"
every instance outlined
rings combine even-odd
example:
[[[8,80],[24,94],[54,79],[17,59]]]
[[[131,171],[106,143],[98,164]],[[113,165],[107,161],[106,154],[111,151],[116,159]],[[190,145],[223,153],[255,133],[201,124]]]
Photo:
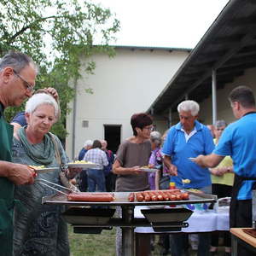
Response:
[[[177,106],[180,122],[168,131],[162,152],[165,165],[177,188],[183,188],[182,179],[189,179],[190,183],[184,185],[186,189],[201,189],[205,193],[212,193],[209,170],[189,160],[198,154],[211,154],[214,149],[211,132],[206,125],[197,121],[199,109],[198,103],[194,101],[184,101]],[[173,256],[183,254],[187,236],[184,234],[172,236]],[[209,247],[210,235],[201,234],[197,255],[208,255]]]

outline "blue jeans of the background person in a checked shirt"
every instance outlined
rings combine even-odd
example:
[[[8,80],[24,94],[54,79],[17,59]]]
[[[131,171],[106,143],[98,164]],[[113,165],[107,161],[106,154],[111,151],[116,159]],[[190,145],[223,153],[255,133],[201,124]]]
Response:
[[[87,170],[88,191],[106,191],[105,175],[103,170],[88,169]]]

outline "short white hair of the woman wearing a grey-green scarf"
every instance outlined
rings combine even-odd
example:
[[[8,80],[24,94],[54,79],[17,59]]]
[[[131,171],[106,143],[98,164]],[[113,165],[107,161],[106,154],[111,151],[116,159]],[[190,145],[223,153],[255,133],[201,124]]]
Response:
[[[49,96],[46,93],[34,94],[26,102],[25,113],[33,113],[40,105],[51,105],[55,108],[55,119],[59,117],[59,106],[53,96]]]

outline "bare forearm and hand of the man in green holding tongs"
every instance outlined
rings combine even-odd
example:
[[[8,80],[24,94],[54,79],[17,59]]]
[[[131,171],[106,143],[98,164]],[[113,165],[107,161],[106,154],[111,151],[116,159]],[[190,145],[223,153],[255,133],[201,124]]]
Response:
[[[0,177],[7,177],[15,185],[32,184],[35,172],[25,165],[0,161]]]

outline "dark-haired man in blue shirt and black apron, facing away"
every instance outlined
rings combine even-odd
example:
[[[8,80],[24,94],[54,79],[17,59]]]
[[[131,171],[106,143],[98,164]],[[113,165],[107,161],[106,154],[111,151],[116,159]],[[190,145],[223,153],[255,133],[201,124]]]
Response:
[[[199,155],[195,163],[215,167],[230,155],[234,163],[235,182],[230,204],[230,228],[252,226],[252,190],[256,185],[256,108],[253,91],[238,86],[230,92],[229,100],[238,119],[223,132],[212,154]],[[238,248],[238,255],[252,255]]]

